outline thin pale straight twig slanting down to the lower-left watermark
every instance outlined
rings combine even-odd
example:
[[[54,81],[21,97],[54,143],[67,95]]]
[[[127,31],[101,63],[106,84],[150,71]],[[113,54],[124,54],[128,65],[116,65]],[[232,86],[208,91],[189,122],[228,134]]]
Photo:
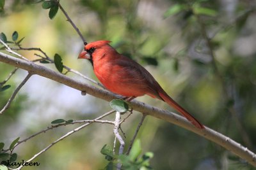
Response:
[[[95,118],[94,120],[100,120],[101,118],[104,118],[108,115],[110,115],[111,113],[113,113],[114,111],[109,111],[108,113],[105,113],[104,115],[101,115],[100,117]],[[84,127],[93,124],[95,121],[93,122],[89,122],[87,124],[81,125],[79,127],[77,127],[76,129],[74,129],[73,131],[67,132],[67,134],[65,134],[64,136],[61,136],[61,138],[57,139],[56,141],[54,141],[53,143],[51,143],[50,145],[48,145],[46,148],[44,148],[43,150],[41,150],[40,152],[36,153],[33,157],[31,157],[31,159],[26,160],[26,162],[31,162],[32,160],[34,160],[36,157],[38,157],[39,155],[41,155],[42,153],[44,153],[45,151],[49,150],[49,148],[51,148],[53,145],[55,145],[56,143],[60,142],[61,140],[67,138],[68,136],[70,136],[71,134],[74,134],[75,132],[80,131],[81,129],[83,129]],[[17,167],[16,169],[21,169],[24,165],[21,165],[19,167]],[[15,170],[16,170],[15,169]]]

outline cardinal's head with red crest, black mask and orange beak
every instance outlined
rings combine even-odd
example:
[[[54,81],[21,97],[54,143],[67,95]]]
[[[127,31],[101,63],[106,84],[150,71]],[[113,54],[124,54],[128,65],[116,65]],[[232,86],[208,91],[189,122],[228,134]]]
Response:
[[[104,48],[104,46],[109,46],[108,43],[111,41],[100,40],[94,41],[92,43],[88,43],[84,45],[83,51],[79,54],[78,59],[88,59],[92,62],[93,53],[97,52],[97,50]]]

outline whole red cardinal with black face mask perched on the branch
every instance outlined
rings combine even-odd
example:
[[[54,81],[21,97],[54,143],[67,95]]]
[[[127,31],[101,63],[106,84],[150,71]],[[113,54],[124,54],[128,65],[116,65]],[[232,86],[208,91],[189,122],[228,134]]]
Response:
[[[116,52],[115,48],[109,45],[110,42],[101,40],[85,43],[84,50],[78,57],[90,60],[94,73],[106,89],[131,99],[145,94],[160,99],[179,111],[193,125],[204,129],[204,125],[164,92],[144,67]]]

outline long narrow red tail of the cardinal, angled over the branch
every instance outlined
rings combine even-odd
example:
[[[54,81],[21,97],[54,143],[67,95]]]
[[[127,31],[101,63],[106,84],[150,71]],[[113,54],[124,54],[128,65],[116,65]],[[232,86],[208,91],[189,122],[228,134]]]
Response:
[[[172,106],[175,110],[179,111],[184,117],[186,117],[189,122],[198,127],[199,129],[204,129],[204,125],[202,125],[196,118],[188,113],[188,111],[184,110],[178,103],[176,103],[166,92],[159,92],[159,96],[170,106]]]

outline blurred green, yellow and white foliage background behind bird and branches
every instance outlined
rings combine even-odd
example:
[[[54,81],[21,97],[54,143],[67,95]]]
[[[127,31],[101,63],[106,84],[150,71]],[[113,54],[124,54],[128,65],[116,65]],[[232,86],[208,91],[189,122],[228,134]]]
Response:
[[[255,0],[74,0],[60,1],[86,41],[108,39],[116,50],[145,66],[164,90],[200,122],[256,152],[256,13]],[[9,0],[0,13],[0,32],[25,37],[22,47],[59,53],[65,66],[97,80],[90,62],[77,60],[83,41],[59,10],[52,20],[42,3]],[[1,47],[1,45],[0,45]],[[2,50],[1,52],[6,52]],[[35,59],[33,51],[19,51]],[[214,60],[212,60],[212,56]],[[54,64],[43,64],[54,71]],[[0,82],[13,70],[0,63]],[[0,108],[26,76],[18,70],[0,92]],[[72,73],[67,76],[83,80]],[[86,81],[86,83],[90,83]],[[162,101],[139,97],[159,108]],[[0,117],[0,142],[27,138],[57,118],[86,120],[111,108],[106,101],[32,76]],[[122,124],[129,143],[141,114]],[[113,120],[113,116],[108,120]],[[78,125],[41,134],[15,148],[28,160]],[[206,139],[163,120],[147,117],[138,136],[143,152],[153,152],[154,169],[253,169],[244,160]],[[53,146],[33,162],[36,169],[103,169],[100,149],[113,145],[113,127],[93,124]],[[19,162],[19,161],[17,161]],[[24,169],[35,169],[26,167]]]

